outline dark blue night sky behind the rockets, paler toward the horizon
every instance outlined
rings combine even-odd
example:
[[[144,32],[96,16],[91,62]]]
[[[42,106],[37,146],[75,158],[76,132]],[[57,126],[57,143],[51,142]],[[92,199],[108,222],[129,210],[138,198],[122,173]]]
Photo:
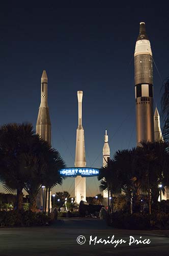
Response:
[[[36,127],[45,69],[52,146],[68,167],[74,166],[77,91],[82,90],[87,166],[100,167],[105,129],[111,157],[136,145],[133,54],[139,22],[146,23],[157,67],[154,103],[160,112],[161,84],[169,76],[169,6],[79,2],[1,3],[0,124],[28,121]],[[73,196],[73,180],[53,192],[64,189]],[[97,178],[88,178],[87,195],[98,193]]]

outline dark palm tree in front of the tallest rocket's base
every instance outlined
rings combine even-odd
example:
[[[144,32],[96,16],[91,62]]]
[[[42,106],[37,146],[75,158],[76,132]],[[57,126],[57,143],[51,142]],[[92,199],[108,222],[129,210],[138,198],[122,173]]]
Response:
[[[141,143],[142,147],[137,147],[137,155],[134,158],[136,169],[134,182],[140,182],[142,191],[148,191],[149,214],[151,214],[151,199],[154,204],[158,202],[158,185],[164,184],[165,180],[167,144],[162,141]]]

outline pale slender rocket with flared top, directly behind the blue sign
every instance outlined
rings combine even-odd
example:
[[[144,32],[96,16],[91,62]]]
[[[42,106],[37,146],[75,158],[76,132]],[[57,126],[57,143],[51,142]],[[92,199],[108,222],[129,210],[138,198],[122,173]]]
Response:
[[[85,134],[82,126],[82,96],[83,92],[77,92],[78,99],[78,126],[76,130],[76,152],[75,152],[75,167],[86,167],[85,155]],[[86,201],[86,178],[77,176],[75,178],[75,202]]]

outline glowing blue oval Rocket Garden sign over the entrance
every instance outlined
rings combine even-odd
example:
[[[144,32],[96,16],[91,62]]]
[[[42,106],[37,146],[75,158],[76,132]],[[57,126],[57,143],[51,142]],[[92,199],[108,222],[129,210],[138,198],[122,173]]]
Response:
[[[87,167],[65,168],[65,169],[60,169],[59,172],[62,176],[65,176],[65,177],[76,177],[78,175],[81,177],[93,177],[93,176],[99,175],[99,169],[87,168]]]

